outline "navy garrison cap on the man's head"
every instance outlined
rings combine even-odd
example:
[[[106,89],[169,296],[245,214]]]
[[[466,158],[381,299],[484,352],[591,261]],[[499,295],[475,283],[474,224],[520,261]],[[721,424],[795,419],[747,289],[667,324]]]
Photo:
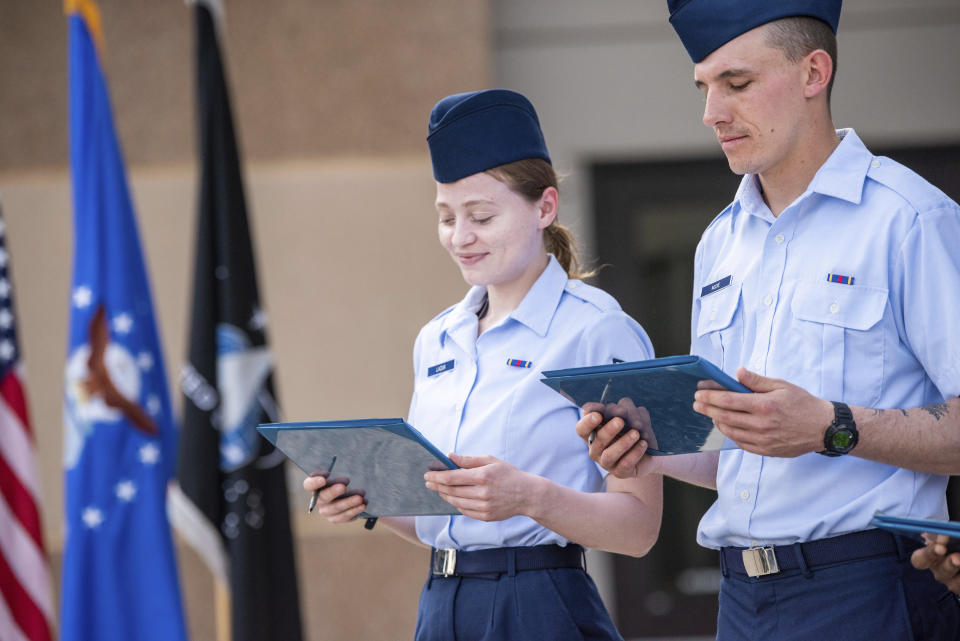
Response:
[[[667,0],[667,8],[670,24],[696,63],[740,34],[780,18],[819,18],[836,33],[841,1]]]

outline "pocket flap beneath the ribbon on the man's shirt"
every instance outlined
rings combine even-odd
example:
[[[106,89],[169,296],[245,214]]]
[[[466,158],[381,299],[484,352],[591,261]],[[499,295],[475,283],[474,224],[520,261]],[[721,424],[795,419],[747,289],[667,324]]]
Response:
[[[804,281],[793,296],[793,315],[806,321],[864,331],[883,318],[887,290],[829,281]]]

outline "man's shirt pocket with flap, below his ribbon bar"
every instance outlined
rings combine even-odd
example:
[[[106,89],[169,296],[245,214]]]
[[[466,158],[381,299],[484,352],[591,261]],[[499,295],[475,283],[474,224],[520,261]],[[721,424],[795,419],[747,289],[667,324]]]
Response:
[[[872,406],[883,386],[884,336],[880,321],[887,290],[828,281],[804,281],[792,310],[811,349],[819,344],[821,398]]]

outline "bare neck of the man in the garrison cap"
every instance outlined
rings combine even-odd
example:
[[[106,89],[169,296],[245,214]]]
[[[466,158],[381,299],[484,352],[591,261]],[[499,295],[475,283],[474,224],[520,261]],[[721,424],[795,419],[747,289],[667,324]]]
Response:
[[[763,200],[774,216],[779,216],[810,186],[810,181],[840,144],[829,119],[815,128],[809,138],[789,158],[757,178],[763,189]]]

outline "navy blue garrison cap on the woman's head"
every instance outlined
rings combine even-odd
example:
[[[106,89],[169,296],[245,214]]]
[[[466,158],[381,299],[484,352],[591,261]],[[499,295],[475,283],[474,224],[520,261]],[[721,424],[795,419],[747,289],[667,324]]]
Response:
[[[533,105],[508,89],[447,96],[430,112],[433,176],[451,183],[525,158],[550,162]]]

